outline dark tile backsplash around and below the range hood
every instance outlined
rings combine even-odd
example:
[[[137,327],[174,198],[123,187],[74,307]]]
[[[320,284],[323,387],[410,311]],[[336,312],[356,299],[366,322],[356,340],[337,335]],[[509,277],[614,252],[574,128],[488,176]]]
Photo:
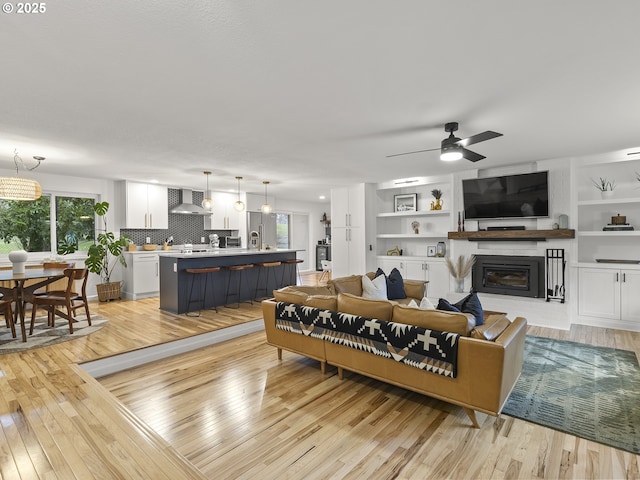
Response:
[[[193,192],[193,203],[199,205],[202,202],[203,192]],[[169,209],[175,207],[180,203],[180,190],[170,188],[169,189]],[[205,243],[209,243],[209,234],[217,233],[219,236],[224,237],[232,234],[229,230],[205,230],[204,218],[202,215],[180,215],[175,213],[169,214],[169,228],[164,230],[157,229],[134,229],[123,228],[120,230],[120,235],[126,235],[136,245],[142,245],[145,243],[146,238],[149,237],[151,243],[162,245],[162,242],[169,236],[173,236],[173,243],[176,245],[182,245],[184,243],[199,244],[201,237],[205,238]],[[237,232],[235,233],[237,234]]]

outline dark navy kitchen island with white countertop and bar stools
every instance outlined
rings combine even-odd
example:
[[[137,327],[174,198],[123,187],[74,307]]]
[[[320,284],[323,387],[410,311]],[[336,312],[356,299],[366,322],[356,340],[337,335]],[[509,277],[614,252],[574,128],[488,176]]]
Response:
[[[258,262],[279,262],[296,258],[297,250],[273,249],[255,250],[246,248],[226,248],[208,252],[194,253],[162,253],[160,261],[160,308],[171,313],[186,313],[201,309],[202,304],[192,302],[189,304],[189,293],[194,275],[187,272],[191,268],[222,267],[219,272],[210,275],[205,294],[205,308],[213,308],[224,305],[227,285],[231,272],[224,267],[232,265],[255,264]],[[269,275],[269,288],[273,290],[285,285],[295,285],[296,270],[287,265],[272,267]],[[258,281],[260,268],[254,267],[242,273],[242,289],[240,301],[253,300]],[[274,280],[275,273],[275,280]],[[282,279],[284,273],[284,279]],[[200,282],[204,282],[204,275],[196,275],[193,296],[201,298],[202,289]],[[265,273],[260,275],[261,284],[265,280]],[[202,284],[204,286],[204,283]],[[231,291],[235,291],[237,284],[231,285]],[[264,290],[261,290],[264,292]],[[230,299],[232,304],[237,303],[238,297]],[[188,305],[189,304],[189,305]]]

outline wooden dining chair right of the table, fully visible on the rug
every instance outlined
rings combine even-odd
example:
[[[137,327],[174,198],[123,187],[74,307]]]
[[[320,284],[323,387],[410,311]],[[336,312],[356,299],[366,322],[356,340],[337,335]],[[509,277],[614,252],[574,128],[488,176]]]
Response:
[[[59,315],[69,321],[69,333],[72,334],[76,310],[79,308],[84,308],[87,322],[91,325],[91,315],[89,314],[89,303],[87,301],[87,279],[89,278],[89,270],[86,268],[67,268],[64,271],[64,276],[67,277],[67,288],[65,290],[51,290],[44,295],[33,297],[29,335],[33,334],[33,326],[38,307],[44,307],[47,311],[47,319],[50,327],[55,326],[55,317]],[[79,293],[74,291],[76,280],[82,281]],[[66,313],[58,307],[65,307]]]

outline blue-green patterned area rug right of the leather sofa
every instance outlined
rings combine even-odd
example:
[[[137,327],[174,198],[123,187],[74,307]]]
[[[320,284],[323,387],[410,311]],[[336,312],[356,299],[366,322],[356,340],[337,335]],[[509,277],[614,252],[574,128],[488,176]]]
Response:
[[[502,413],[640,454],[638,399],[634,352],[527,335]]]

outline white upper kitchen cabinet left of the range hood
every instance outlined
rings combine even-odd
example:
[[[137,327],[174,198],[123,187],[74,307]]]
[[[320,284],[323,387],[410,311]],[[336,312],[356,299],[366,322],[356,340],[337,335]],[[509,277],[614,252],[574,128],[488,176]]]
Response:
[[[124,182],[124,228],[169,228],[168,189],[163,185]]]

